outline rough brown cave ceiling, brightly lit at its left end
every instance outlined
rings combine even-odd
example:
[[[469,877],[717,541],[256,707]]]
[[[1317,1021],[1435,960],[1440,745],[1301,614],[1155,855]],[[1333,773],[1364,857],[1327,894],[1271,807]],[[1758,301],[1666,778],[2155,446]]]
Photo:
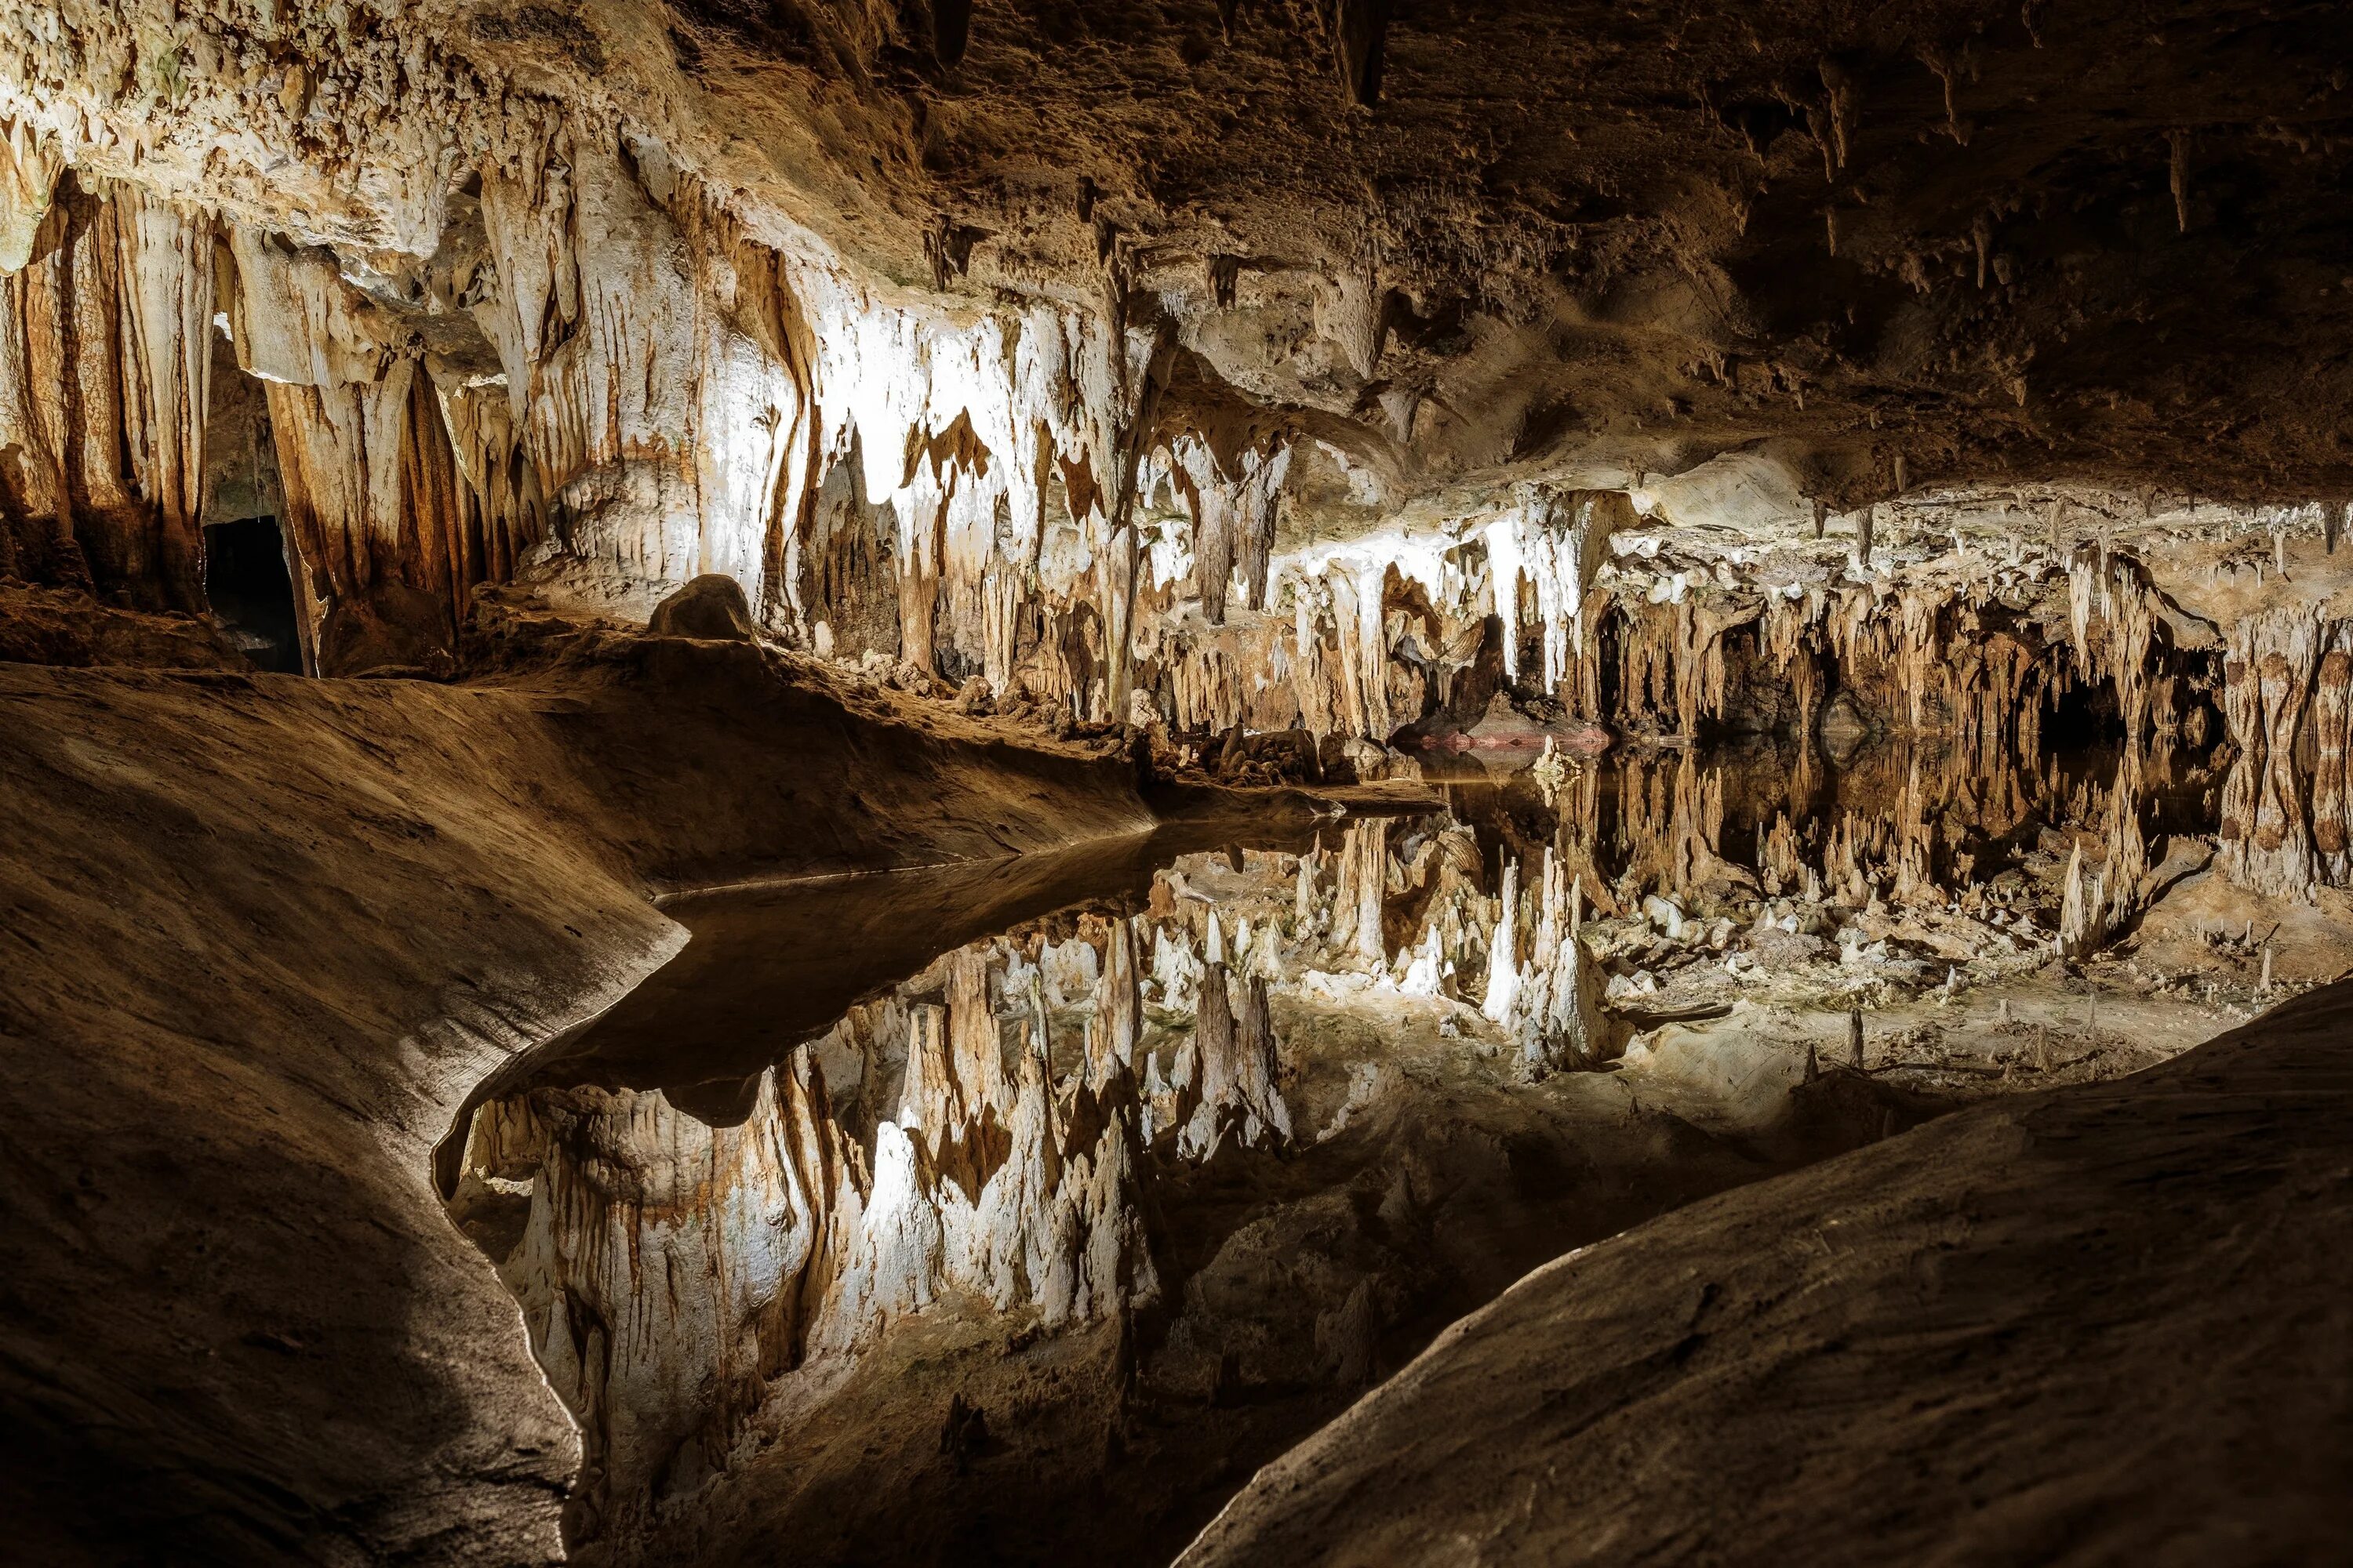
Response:
[[[1744,449],[1840,510],[2353,491],[2348,45],[2214,0],[75,0],[0,75],[19,188],[64,139],[482,369],[414,308],[478,167],[612,122],[880,294],[1125,322],[1195,428],[1318,437],[1287,524],[1329,527]]]

